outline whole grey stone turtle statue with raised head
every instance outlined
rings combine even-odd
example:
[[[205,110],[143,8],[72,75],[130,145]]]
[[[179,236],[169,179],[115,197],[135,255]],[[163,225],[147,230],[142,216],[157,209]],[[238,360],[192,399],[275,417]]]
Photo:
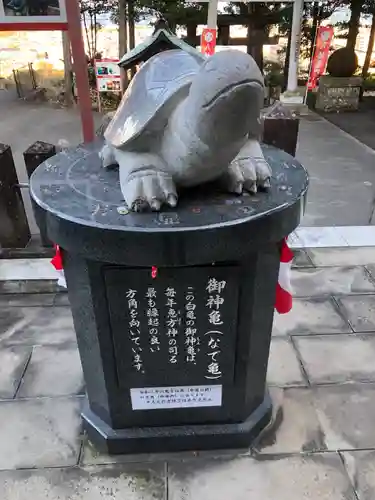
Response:
[[[178,187],[216,179],[238,194],[267,189],[271,170],[258,142],[263,99],[263,77],[248,54],[156,54],[104,133],[103,166],[119,165],[134,211],[174,207]]]

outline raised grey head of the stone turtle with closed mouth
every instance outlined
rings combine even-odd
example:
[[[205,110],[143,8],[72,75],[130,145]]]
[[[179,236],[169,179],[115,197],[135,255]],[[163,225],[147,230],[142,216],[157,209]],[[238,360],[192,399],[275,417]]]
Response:
[[[237,141],[259,132],[264,80],[254,59],[238,50],[210,56],[194,78],[188,112],[207,143]]]

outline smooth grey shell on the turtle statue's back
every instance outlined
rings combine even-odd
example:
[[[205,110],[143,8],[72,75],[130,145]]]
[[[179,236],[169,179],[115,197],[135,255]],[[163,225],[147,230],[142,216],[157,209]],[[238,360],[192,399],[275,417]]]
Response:
[[[128,144],[138,137],[150,122],[168,116],[177,92],[189,88],[194,75],[204,62],[197,52],[193,56],[180,49],[167,50],[151,57],[133,78],[122,98],[112,122],[105,131],[105,139],[115,147]],[[164,117],[161,110],[164,110]],[[164,128],[156,123],[157,129]]]

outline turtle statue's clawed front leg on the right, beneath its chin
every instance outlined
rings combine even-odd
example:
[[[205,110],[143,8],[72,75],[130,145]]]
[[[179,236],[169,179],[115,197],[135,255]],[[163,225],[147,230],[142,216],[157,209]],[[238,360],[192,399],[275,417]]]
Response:
[[[256,139],[249,139],[234,158],[223,179],[230,193],[256,193],[270,187],[272,171]]]

